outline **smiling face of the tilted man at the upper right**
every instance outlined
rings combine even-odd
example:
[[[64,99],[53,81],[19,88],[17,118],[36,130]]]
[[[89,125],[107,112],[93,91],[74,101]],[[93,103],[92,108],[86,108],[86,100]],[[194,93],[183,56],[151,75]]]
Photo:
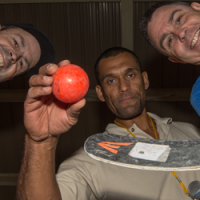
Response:
[[[148,24],[155,47],[172,62],[200,64],[200,4],[165,5]]]

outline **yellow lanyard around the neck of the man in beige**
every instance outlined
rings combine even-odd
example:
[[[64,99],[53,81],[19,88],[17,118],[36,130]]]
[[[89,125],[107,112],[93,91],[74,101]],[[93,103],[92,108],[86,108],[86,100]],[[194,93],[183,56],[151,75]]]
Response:
[[[148,114],[147,114],[147,115],[148,115]],[[148,115],[148,116],[149,116],[149,119],[150,119],[150,121],[151,121],[153,130],[154,130],[155,138],[158,139],[158,135],[157,135],[155,126],[154,126],[154,124],[153,124],[153,121],[152,121],[150,115]],[[117,124],[118,126],[121,126],[121,127],[125,128],[133,137],[136,138],[136,136],[135,136],[128,128],[126,128],[126,127],[123,126],[122,124],[118,123],[116,120],[114,120],[114,123]],[[188,195],[188,196],[190,196],[190,194],[189,194],[187,188],[185,187],[185,185],[183,184],[183,182],[181,181],[181,179],[178,177],[178,175],[176,174],[176,172],[172,171],[171,173],[176,177],[177,181],[179,182],[179,184],[180,184],[180,186],[182,187],[182,189],[183,189],[183,191],[185,192],[185,194]]]

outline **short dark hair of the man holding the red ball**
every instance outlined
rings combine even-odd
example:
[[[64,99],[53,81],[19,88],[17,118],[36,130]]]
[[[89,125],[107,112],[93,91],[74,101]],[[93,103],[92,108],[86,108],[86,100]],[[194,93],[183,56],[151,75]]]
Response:
[[[112,48],[109,48],[109,49],[105,50],[105,51],[98,57],[97,61],[95,62],[95,65],[94,65],[94,73],[95,73],[95,77],[96,77],[97,83],[98,83],[99,85],[101,85],[101,82],[100,82],[100,80],[99,80],[99,62],[100,62],[102,59],[104,59],[104,58],[110,58],[110,57],[117,56],[118,54],[120,54],[120,53],[125,53],[125,52],[130,53],[130,54],[134,57],[135,61],[136,61],[136,62],[138,63],[138,65],[139,65],[140,71],[142,71],[140,61],[139,61],[137,55],[136,55],[133,51],[131,51],[131,50],[129,50],[129,49],[126,49],[126,48],[124,48],[124,47],[112,47]]]

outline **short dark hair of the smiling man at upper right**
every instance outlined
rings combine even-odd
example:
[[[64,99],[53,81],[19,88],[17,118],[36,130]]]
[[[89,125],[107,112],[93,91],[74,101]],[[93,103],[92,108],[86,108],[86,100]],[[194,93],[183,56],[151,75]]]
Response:
[[[162,1],[162,2],[158,2],[156,4],[154,4],[153,6],[151,6],[146,12],[145,14],[143,15],[141,21],[140,21],[140,30],[142,31],[142,34],[143,36],[149,41],[149,43],[153,46],[154,44],[152,43],[152,41],[150,40],[149,38],[149,35],[148,35],[148,24],[149,22],[151,21],[151,18],[154,14],[154,12],[162,7],[162,6],[166,6],[166,5],[184,5],[184,6],[189,6],[190,7],[190,4],[186,3],[186,2],[181,2],[181,1]]]

